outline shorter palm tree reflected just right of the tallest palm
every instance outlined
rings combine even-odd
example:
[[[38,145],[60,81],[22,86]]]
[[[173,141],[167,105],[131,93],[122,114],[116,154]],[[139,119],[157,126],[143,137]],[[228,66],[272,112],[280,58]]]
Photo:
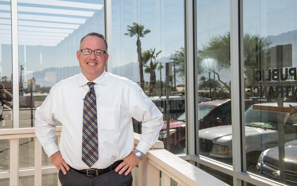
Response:
[[[148,61],[150,61],[150,65],[145,65],[146,69],[145,69],[145,73],[150,73],[150,84],[149,84],[149,92],[150,93],[154,93],[156,92],[156,72],[155,69],[158,66],[158,62],[156,62],[156,58],[157,56],[162,52],[162,50],[160,50],[159,52],[157,52],[155,54],[155,50],[154,49],[149,49],[147,51],[143,52],[143,63],[146,64]]]

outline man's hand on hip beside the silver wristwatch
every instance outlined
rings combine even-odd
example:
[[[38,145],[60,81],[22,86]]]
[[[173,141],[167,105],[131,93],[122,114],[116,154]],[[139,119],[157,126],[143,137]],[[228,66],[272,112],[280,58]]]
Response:
[[[119,174],[123,174],[123,172],[127,170],[125,172],[125,176],[127,176],[132,168],[134,168],[140,162],[140,159],[135,156],[134,151],[132,151],[127,157],[124,157],[121,160],[123,160],[123,162],[121,162],[121,164],[116,167],[115,171],[119,171]]]

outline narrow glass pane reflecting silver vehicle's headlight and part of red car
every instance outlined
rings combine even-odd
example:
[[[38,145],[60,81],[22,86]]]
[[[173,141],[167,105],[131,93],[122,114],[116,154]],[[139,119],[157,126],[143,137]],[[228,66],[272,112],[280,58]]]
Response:
[[[232,165],[230,1],[197,0],[196,3],[196,153]]]

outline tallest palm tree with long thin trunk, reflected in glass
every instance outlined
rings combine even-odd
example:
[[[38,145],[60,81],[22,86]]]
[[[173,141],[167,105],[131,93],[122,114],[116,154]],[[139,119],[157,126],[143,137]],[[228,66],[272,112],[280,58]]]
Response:
[[[128,35],[130,37],[136,36],[137,41],[137,54],[138,54],[138,62],[139,62],[139,75],[140,75],[140,87],[144,90],[144,79],[143,79],[143,64],[142,64],[142,55],[141,55],[141,42],[140,37],[146,36],[151,32],[150,29],[144,29],[144,25],[133,22],[132,26],[127,26],[127,33],[124,35]]]

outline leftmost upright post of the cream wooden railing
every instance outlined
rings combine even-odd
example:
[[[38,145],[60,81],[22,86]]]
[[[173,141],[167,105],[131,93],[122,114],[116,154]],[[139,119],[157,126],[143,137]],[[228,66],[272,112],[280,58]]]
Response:
[[[19,185],[19,162],[19,139],[10,139],[10,186]]]

